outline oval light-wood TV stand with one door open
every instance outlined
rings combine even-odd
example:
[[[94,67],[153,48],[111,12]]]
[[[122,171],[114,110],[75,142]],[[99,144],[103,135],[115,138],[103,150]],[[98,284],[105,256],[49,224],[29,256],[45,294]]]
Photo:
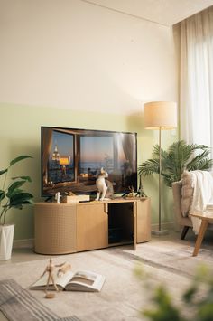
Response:
[[[150,198],[35,203],[34,250],[57,255],[151,240]]]

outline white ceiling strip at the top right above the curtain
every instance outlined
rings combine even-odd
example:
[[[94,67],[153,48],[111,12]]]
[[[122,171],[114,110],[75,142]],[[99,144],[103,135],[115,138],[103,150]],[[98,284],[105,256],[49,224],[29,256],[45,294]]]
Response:
[[[213,0],[83,0],[123,14],[171,26],[213,5]]]

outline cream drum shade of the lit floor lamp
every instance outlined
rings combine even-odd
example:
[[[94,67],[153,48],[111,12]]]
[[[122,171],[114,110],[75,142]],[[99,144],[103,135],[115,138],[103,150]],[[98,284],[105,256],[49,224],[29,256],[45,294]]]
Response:
[[[144,104],[146,129],[172,129],[177,127],[177,104],[173,101],[152,101]]]

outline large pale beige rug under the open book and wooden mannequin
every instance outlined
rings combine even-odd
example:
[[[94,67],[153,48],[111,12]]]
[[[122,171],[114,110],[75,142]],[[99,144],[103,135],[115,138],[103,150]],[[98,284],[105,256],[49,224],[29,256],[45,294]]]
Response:
[[[149,242],[149,245],[148,243],[139,244],[135,251],[132,246],[124,246],[53,257],[55,264],[69,262],[73,271],[88,269],[105,275],[106,282],[101,292],[61,291],[51,300],[44,298],[43,291],[31,290],[30,294],[42,306],[47,307],[51,313],[60,318],[76,316],[81,321],[141,321],[143,319],[140,311],[147,307],[150,297],[147,288],[134,275],[134,269],[138,264],[142,266],[153,285],[159,283],[166,285],[177,303],[179,303],[182,290],[187,288],[190,282],[190,274],[179,273],[180,269],[169,269],[166,261],[164,265],[160,259],[157,262],[161,250],[158,248],[157,253],[157,247],[153,250],[154,262],[151,245],[152,242]],[[153,243],[153,248],[155,245]],[[191,257],[190,253],[183,252],[183,256],[186,255]],[[180,253],[177,251],[172,256],[173,261],[179,262],[180,258]],[[29,289],[32,283],[41,276],[47,263],[48,258],[2,265],[0,266],[0,280],[12,278],[22,288]]]

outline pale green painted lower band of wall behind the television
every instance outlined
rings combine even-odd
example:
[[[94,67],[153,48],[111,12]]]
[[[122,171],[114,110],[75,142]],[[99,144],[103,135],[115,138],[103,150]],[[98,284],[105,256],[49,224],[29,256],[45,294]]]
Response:
[[[32,184],[26,188],[34,195],[34,202],[41,201],[41,126],[79,127],[116,131],[134,131],[138,134],[138,164],[151,156],[153,145],[158,143],[158,132],[144,130],[143,115],[123,116],[94,112],[78,112],[69,109],[0,104],[0,170],[16,156],[30,155],[33,158],[14,165],[12,175],[30,175]],[[162,133],[162,147],[176,139],[171,131]],[[1,177],[0,177],[1,178]],[[0,186],[2,182],[0,181]],[[1,187],[0,187],[1,188]],[[144,179],[144,190],[152,198],[152,222],[158,222],[158,177]],[[164,189],[162,221],[172,221],[171,191]],[[169,197],[168,197],[169,195]],[[15,223],[14,240],[33,238],[33,206],[9,212],[7,222]]]

